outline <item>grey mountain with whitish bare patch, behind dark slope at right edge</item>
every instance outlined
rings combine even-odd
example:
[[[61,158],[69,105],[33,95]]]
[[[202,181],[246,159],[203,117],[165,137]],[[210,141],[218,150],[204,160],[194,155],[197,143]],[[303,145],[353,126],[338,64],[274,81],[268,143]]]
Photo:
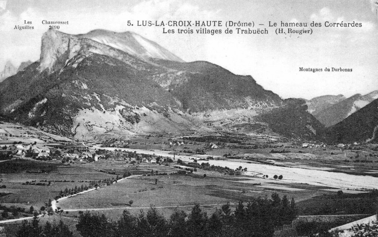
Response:
[[[317,113],[313,113],[326,127],[335,125],[378,98],[378,90],[367,95],[355,94]]]

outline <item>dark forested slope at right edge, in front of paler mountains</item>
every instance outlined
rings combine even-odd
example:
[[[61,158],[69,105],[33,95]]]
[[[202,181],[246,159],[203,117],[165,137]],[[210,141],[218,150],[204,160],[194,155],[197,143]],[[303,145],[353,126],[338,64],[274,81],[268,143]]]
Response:
[[[378,99],[327,129],[330,144],[378,142]]]

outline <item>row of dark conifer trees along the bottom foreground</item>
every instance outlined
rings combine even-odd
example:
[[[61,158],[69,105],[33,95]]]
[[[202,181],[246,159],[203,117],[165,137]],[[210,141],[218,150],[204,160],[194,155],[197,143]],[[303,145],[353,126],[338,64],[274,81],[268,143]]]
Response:
[[[294,199],[289,201],[286,196],[281,199],[274,193],[271,198],[239,201],[234,211],[227,203],[212,215],[199,204],[195,204],[189,214],[176,209],[168,219],[153,206],[139,215],[124,210],[118,221],[110,221],[104,214],[81,212],[76,230],[82,237],[272,237],[275,227],[290,224],[296,215]],[[54,228],[65,230],[61,224]],[[36,220],[24,223],[21,228],[23,233],[34,233],[33,237],[47,236],[36,235],[35,229]],[[21,230],[18,237],[31,236],[22,234]],[[70,233],[65,233],[64,237],[70,237]]]

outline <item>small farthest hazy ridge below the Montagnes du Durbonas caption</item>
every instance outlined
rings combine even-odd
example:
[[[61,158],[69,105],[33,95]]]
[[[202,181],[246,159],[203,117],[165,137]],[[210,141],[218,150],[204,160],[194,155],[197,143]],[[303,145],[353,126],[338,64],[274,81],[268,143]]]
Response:
[[[323,95],[315,97],[306,101],[306,105],[308,107],[307,111],[312,115],[316,115],[322,110],[325,110],[344,99],[346,98],[343,95]]]

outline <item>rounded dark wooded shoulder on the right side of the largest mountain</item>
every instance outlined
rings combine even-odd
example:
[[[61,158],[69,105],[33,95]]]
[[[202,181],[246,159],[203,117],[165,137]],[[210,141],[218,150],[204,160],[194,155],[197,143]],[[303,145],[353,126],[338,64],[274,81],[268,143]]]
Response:
[[[175,70],[154,75],[152,79],[171,91],[189,112],[267,108],[282,102],[277,94],[265,90],[251,76],[234,75],[209,62],[154,62]]]

